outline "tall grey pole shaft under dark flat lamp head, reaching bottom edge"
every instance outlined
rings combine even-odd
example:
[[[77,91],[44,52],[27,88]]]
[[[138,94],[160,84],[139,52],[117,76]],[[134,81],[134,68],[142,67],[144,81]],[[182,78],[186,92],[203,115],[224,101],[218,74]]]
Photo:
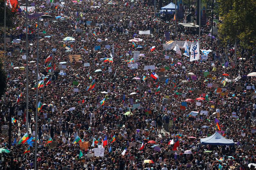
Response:
[[[38,60],[39,60],[39,54],[38,54],[38,48],[39,48],[39,17],[37,17],[37,57],[36,57],[36,133],[35,133],[35,161],[34,161],[34,168],[35,170],[37,169],[36,165],[36,154],[37,154],[37,115],[38,115],[38,108],[37,108],[37,103],[38,103]]]

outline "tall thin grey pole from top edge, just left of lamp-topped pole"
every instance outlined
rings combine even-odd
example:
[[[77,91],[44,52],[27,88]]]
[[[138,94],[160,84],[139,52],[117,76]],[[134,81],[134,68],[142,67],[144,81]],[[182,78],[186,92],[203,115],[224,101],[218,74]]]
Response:
[[[28,132],[28,0],[26,0],[26,11],[26,127]]]

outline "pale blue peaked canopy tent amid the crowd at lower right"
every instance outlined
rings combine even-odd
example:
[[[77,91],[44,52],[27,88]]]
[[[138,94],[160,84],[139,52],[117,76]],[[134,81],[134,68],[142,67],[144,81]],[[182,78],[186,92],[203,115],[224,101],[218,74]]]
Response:
[[[200,143],[207,145],[235,145],[233,139],[226,139],[218,132],[215,132],[212,136],[200,139]]]

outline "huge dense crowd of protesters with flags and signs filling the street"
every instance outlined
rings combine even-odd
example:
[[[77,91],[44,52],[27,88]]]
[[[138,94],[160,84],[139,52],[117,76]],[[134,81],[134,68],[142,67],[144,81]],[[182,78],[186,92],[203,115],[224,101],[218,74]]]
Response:
[[[0,122],[1,148],[9,153],[2,152],[1,169],[35,169],[35,143],[27,139],[36,130],[37,169],[255,169],[255,77],[247,76],[256,70],[255,49],[238,43],[235,60],[234,46],[223,46],[216,36],[206,59],[177,58],[163,48],[168,34],[170,40],[199,42],[200,49],[209,50],[211,19],[201,27],[201,37],[195,27],[180,24],[176,36],[173,15],[155,15],[147,0],[28,2],[33,12],[52,18],[28,20],[28,120],[22,68],[26,11],[13,18],[16,29],[7,28],[6,37],[15,41],[6,43],[8,81]],[[42,105],[36,103],[36,88]],[[4,129],[10,113],[11,144]],[[234,145],[200,143],[216,131]],[[102,148],[103,156],[94,156]]]

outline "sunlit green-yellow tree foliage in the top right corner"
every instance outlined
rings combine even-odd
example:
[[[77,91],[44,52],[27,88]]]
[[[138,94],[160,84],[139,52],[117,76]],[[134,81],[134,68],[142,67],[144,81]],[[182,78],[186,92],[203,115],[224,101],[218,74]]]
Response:
[[[256,1],[218,0],[222,24],[219,34],[225,43],[240,40],[244,48],[256,45]]]

